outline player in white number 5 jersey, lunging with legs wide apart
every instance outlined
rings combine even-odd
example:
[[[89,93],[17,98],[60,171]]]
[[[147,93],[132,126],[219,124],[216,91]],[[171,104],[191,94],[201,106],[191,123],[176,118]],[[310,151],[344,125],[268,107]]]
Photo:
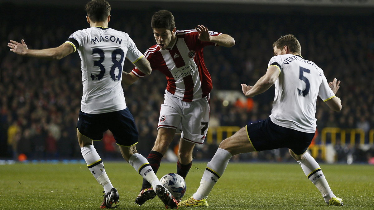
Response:
[[[223,175],[232,155],[289,148],[305,175],[319,189],[328,205],[343,206],[331,191],[321,168],[307,151],[316,130],[316,100],[319,96],[334,111],[341,110],[335,96],[340,81],[327,83],[324,72],[314,62],[301,57],[301,46],[294,35],[285,35],[273,44],[274,57],[266,74],[252,86],[241,84],[243,93],[253,97],[275,84],[272,114],[264,121],[249,124],[223,140],[206,166],[200,186],[179,206],[208,206],[206,198]]]

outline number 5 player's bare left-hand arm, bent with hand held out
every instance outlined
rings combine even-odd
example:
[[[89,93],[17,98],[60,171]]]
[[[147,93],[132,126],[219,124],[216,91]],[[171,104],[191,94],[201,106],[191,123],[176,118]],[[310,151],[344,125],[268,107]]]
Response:
[[[265,92],[278,79],[279,73],[280,72],[277,67],[270,66],[267,69],[266,74],[263,75],[253,87],[247,86],[246,84],[241,84],[244,95],[247,97],[253,97],[255,95]]]

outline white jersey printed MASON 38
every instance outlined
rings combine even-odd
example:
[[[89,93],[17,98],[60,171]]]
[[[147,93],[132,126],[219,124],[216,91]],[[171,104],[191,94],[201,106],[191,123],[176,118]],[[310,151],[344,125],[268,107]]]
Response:
[[[82,60],[82,112],[99,114],[126,109],[121,86],[125,58],[137,62],[143,55],[127,33],[91,27],[76,31],[65,43]]]

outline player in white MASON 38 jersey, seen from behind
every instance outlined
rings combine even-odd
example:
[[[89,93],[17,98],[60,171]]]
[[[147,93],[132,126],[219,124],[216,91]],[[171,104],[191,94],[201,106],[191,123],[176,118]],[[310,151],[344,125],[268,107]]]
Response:
[[[143,74],[150,74],[147,59],[139,52],[127,33],[108,28],[109,3],[92,0],[86,4],[87,22],[90,28],[76,31],[64,44],[56,48],[30,50],[24,40],[22,44],[10,40],[8,46],[19,55],[46,59],[61,59],[70,53],[79,52],[82,60],[83,96],[77,123],[77,135],[83,158],[96,180],[104,187],[101,208],[111,208],[119,201],[119,194],[111,184],[93,140],[101,140],[110,130],[119,145],[123,158],[154,186],[155,194],[166,207],[177,208],[177,201],[164,188],[148,161],[137,153],[138,130],[134,118],[126,107],[121,86],[122,67],[129,59]]]

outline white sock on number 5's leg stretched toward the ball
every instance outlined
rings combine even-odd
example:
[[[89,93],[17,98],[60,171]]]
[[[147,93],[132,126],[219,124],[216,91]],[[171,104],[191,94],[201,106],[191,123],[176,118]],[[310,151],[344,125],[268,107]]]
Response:
[[[200,181],[200,186],[193,194],[195,200],[202,200],[208,198],[209,193],[212,191],[215,183],[223,175],[227,164],[232,155],[225,149],[218,148],[212,160],[206,165],[205,172]]]

